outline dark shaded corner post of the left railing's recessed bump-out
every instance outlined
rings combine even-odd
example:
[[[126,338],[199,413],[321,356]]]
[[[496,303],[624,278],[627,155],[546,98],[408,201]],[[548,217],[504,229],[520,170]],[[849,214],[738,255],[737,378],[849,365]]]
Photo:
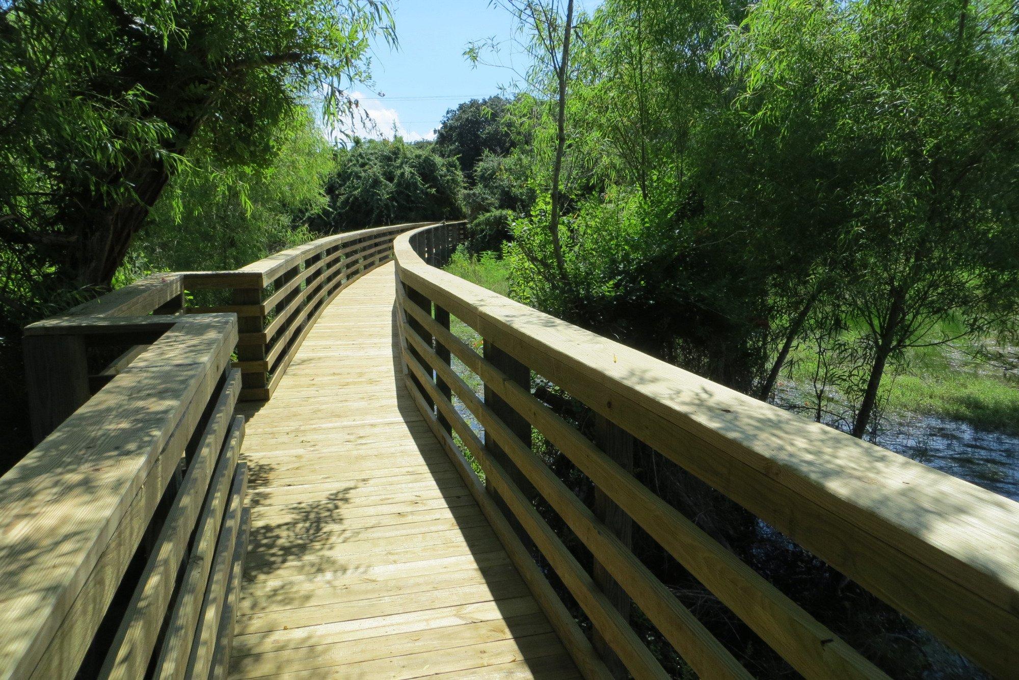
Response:
[[[76,335],[26,335],[24,378],[36,444],[89,400],[85,339]]]

